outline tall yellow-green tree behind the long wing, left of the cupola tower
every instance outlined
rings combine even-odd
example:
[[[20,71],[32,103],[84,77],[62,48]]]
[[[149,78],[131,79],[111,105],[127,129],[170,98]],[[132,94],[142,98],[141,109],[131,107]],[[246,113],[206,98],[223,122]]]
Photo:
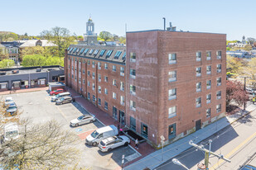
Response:
[[[57,55],[59,57],[65,57],[65,49],[75,41],[75,36],[70,35],[68,29],[58,26],[52,28],[51,31],[42,31],[41,36],[57,45]]]

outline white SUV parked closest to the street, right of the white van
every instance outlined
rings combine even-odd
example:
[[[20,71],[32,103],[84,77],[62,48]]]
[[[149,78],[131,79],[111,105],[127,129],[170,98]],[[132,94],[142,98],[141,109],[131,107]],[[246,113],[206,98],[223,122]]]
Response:
[[[130,144],[130,139],[128,139],[127,136],[112,136],[101,140],[99,143],[99,149],[102,152],[109,152],[119,146],[128,146],[128,144]]]

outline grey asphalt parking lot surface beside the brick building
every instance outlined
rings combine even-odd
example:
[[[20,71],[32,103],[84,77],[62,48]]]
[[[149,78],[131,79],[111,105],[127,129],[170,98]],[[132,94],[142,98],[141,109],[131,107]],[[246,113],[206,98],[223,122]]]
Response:
[[[14,93],[3,97],[9,96],[17,103],[19,111],[23,111],[22,117],[29,117],[33,124],[57,120],[65,130],[71,130],[78,135],[80,142],[75,147],[78,147],[82,153],[80,166],[83,168],[120,169],[123,154],[125,163],[140,156],[129,146],[114,149],[109,153],[102,153],[98,147],[86,145],[86,136],[104,125],[96,120],[87,125],[70,127],[70,120],[89,114],[76,102],[56,106],[55,102],[51,102],[51,96],[46,91]]]

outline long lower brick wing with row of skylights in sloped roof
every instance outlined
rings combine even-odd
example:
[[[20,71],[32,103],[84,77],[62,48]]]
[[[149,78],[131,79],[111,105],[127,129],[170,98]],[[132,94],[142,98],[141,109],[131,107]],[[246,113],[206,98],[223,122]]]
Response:
[[[70,45],[66,84],[125,125],[126,49],[117,45]]]

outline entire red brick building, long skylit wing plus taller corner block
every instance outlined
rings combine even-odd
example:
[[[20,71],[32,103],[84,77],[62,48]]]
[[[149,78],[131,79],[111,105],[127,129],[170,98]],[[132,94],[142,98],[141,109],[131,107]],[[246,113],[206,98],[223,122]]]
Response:
[[[66,84],[155,146],[161,135],[168,144],[224,116],[225,34],[126,37],[126,47],[70,45]]]

